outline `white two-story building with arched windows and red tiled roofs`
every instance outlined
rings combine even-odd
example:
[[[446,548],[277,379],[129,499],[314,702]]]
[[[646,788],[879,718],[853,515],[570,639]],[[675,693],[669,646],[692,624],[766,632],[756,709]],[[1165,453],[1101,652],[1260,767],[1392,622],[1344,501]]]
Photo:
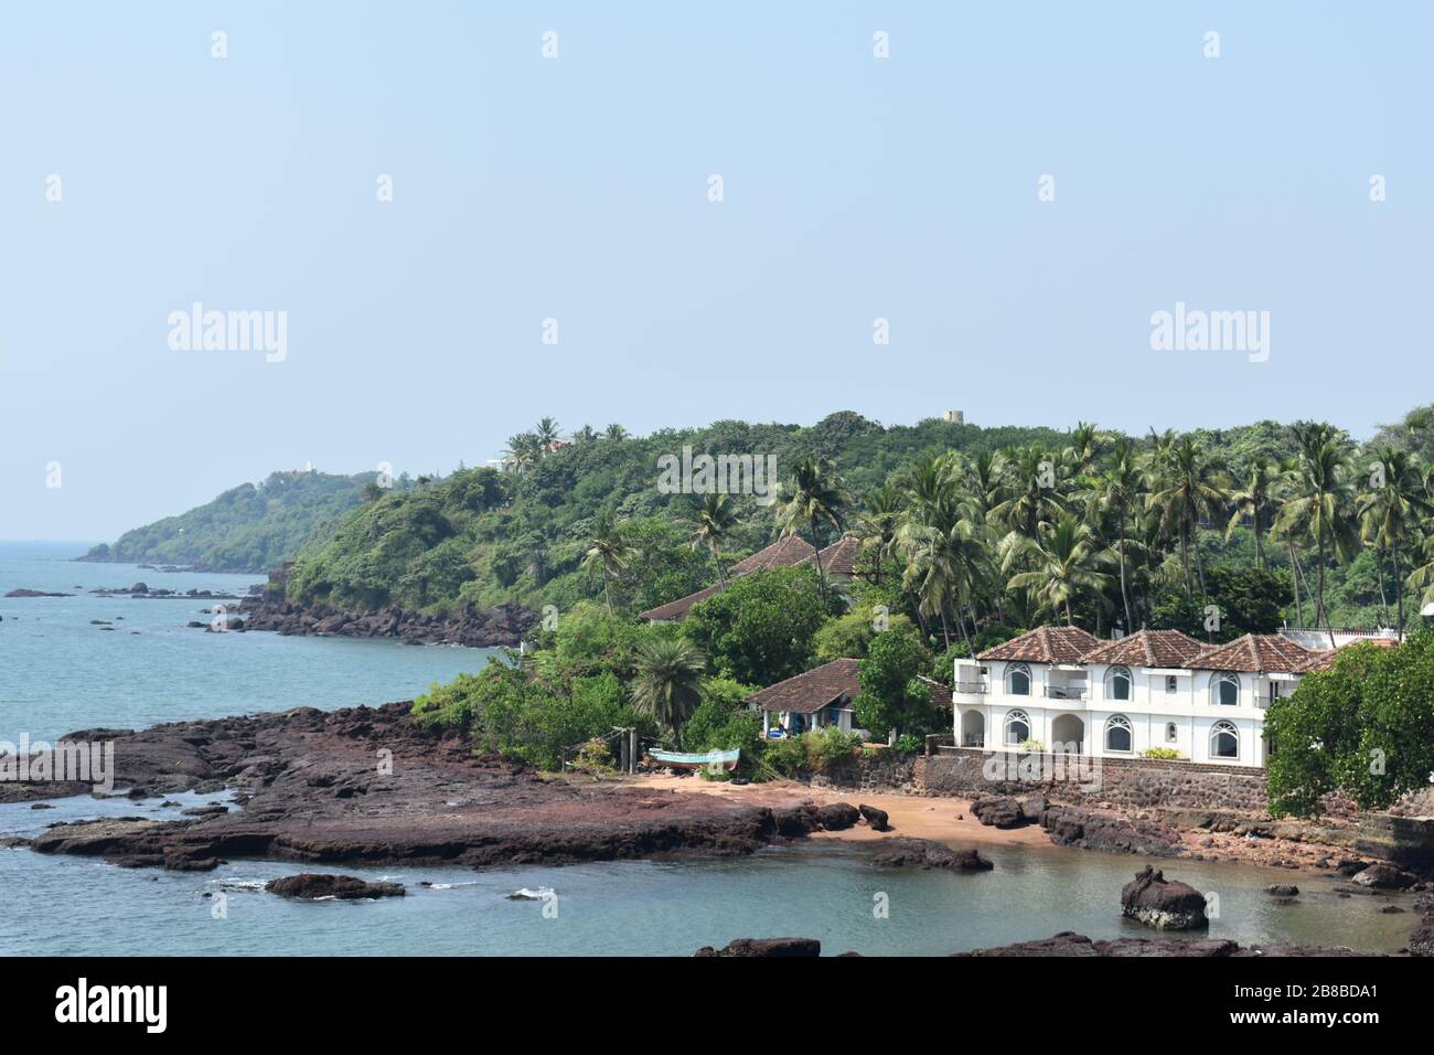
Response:
[[[1179,630],[1100,642],[1078,627],[1038,627],[956,660],[955,738],[1107,758],[1167,748],[1195,762],[1260,766],[1271,700],[1318,656],[1278,634],[1210,646]]]

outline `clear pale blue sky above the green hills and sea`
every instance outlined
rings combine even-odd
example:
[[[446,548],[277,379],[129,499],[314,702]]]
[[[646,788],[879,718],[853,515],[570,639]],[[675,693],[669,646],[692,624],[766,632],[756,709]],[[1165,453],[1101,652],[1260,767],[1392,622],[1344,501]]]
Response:
[[[543,415],[1367,436],[1434,399],[1431,23],[9,4],[0,538],[113,538],[305,464],[447,472]],[[284,313],[282,356],[172,347],[196,301]],[[1153,347],[1182,303],[1268,311],[1268,356]]]

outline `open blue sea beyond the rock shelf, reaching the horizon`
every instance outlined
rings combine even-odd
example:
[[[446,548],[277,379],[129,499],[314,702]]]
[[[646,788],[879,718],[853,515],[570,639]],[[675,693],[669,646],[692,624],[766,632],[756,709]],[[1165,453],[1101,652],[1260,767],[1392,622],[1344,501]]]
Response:
[[[351,637],[205,633],[204,600],[98,597],[128,587],[212,590],[242,596],[262,576],[162,573],[133,564],[77,564],[83,545],[0,543],[0,594],[14,589],[72,597],[0,596],[0,739],[54,739],[96,726],[255,711],[412,699],[435,680],[480,670],[488,649],[413,646]],[[75,587],[82,587],[76,590]],[[229,606],[237,601],[221,601]],[[108,620],[106,630],[90,620]]]

